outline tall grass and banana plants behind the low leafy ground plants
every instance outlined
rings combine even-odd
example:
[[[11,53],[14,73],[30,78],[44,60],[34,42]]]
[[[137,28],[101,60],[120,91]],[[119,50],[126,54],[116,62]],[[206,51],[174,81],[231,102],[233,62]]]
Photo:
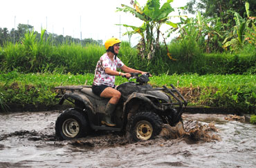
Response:
[[[145,30],[141,27],[134,31],[143,34],[145,44],[148,44],[146,48],[150,48],[150,51],[141,50],[143,48],[138,45],[137,50],[123,41],[118,56],[126,65],[154,74],[255,74],[256,18],[250,17],[248,3],[245,11],[247,17],[243,19],[235,13],[237,25],[232,28],[231,36],[223,32],[221,19],[206,19],[201,12],[198,12],[196,19],[180,17],[180,23],[172,24],[168,20],[173,10],[171,2],[168,0],[160,6],[159,0],[148,0],[146,5],[140,8],[135,1],[133,7],[123,5],[123,8],[120,8],[120,11],[134,13],[143,20],[143,25],[147,25]],[[171,28],[169,33],[175,30],[179,32],[179,36],[167,47],[158,43],[158,33],[163,23],[177,26]],[[24,31],[25,28],[22,28]],[[31,29],[32,27],[28,28],[19,43],[9,41],[0,48],[2,72],[17,70],[25,73],[84,74],[94,71],[96,61],[105,52],[102,45],[90,44],[84,47],[71,41],[53,45],[53,39],[48,38],[45,30],[42,30],[38,37],[39,34]],[[151,30],[156,30],[156,34],[152,34]],[[153,48],[149,47],[152,44]],[[142,51],[149,55],[154,53],[154,56],[148,55],[144,58]]]

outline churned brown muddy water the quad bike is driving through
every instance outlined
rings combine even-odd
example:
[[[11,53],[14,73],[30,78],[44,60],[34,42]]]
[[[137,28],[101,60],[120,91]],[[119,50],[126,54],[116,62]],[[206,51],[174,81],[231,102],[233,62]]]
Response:
[[[256,126],[226,115],[184,114],[183,137],[134,143],[102,132],[56,140],[59,114],[0,114],[0,167],[256,167]]]

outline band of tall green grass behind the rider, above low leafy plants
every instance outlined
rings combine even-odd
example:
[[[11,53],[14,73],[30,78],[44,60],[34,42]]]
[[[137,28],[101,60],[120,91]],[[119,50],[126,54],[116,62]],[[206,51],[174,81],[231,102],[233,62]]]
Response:
[[[43,31],[43,30],[42,30]],[[190,34],[196,32],[187,31]],[[193,35],[194,36],[194,35]],[[195,37],[194,37],[195,38]],[[52,45],[51,39],[44,38],[37,41],[33,32],[25,34],[22,43],[7,43],[0,50],[0,70],[10,72],[59,72],[72,74],[91,73],[95,65],[104,54],[102,45],[82,45],[77,43],[64,43]],[[152,74],[255,74],[256,73],[256,51],[255,46],[246,45],[239,53],[212,53],[202,52],[199,43],[184,36],[182,40],[172,41],[168,48],[171,56],[167,56],[164,45],[156,51],[151,59],[142,59],[136,48],[122,41],[118,57],[125,65],[151,72]]]

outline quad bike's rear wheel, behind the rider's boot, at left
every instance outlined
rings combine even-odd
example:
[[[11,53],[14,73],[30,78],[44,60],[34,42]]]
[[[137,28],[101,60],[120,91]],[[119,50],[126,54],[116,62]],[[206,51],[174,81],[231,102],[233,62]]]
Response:
[[[60,140],[85,137],[88,130],[85,116],[75,109],[66,109],[55,123],[55,133]]]

